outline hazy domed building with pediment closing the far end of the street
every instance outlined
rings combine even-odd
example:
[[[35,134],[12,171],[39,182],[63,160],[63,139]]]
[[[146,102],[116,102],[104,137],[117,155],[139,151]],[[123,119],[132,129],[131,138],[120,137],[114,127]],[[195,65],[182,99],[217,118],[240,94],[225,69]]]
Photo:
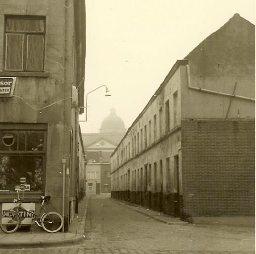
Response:
[[[126,133],[125,124],[114,108],[103,119],[99,133],[83,133],[87,159],[86,193],[110,194],[110,156]]]

